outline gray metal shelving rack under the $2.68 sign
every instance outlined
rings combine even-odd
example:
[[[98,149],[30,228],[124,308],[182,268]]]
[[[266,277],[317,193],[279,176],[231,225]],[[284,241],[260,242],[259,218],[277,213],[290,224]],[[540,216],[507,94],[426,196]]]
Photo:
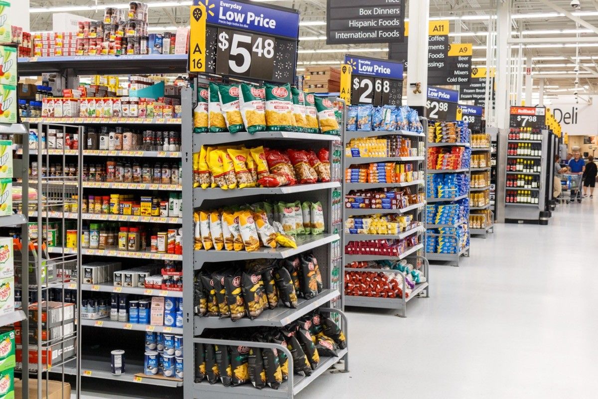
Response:
[[[428,121],[425,118],[422,118],[422,124],[424,126],[424,132],[428,131]],[[376,136],[388,136],[388,135],[396,135],[402,136],[404,138],[411,139],[411,148],[418,148],[420,152],[418,156],[412,157],[380,157],[380,158],[373,158],[373,157],[343,157],[343,170],[346,170],[351,165],[359,165],[359,164],[367,164],[367,163],[376,163],[376,162],[404,162],[410,163],[414,166],[414,171],[419,173],[421,176],[417,176],[417,179],[414,181],[409,182],[399,182],[399,183],[347,183],[345,182],[343,185],[344,194],[347,195],[351,190],[372,190],[376,188],[404,188],[408,187],[411,190],[411,193],[424,193],[424,185],[425,179],[423,179],[422,170],[425,167],[426,163],[426,156],[427,156],[427,148],[426,148],[426,135],[425,133],[414,133],[409,132],[407,130],[396,130],[396,131],[371,131],[371,132],[346,132],[344,135],[343,141],[343,154],[346,154],[345,148],[349,145],[349,142],[353,138],[364,138],[364,137],[376,137]],[[344,178],[344,176],[343,176]],[[426,203],[416,203],[411,204],[405,208],[401,209],[365,209],[365,208],[344,208],[343,211],[343,220],[347,220],[350,216],[367,216],[367,215],[377,215],[377,214],[412,214],[413,220],[418,221],[420,223],[419,226],[413,227],[405,232],[400,232],[398,234],[348,234],[343,233],[343,248],[349,242],[354,241],[367,241],[367,240],[379,240],[379,239],[405,239],[406,237],[417,235],[419,238],[418,244],[415,246],[411,246],[408,248],[403,254],[397,257],[392,256],[382,256],[382,255],[350,255],[344,252],[343,249],[343,264],[345,272],[379,272],[379,273],[398,273],[402,276],[402,297],[399,298],[383,298],[383,297],[363,297],[363,296],[349,296],[344,295],[344,303],[346,306],[355,306],[355,307],[373,307],[377,309],[397,309],[399,310],[398,316],[405,317],[407,316],[407,303],[411,299],[415,297],[428,297],[429,296],[429,264],[428,260],[423,257],[423,242],[425,241],[425,227],[423,226],[423,217],[424,212],[423,208],[425,208]],[[344,229],[343,229],[344,230]],[[391,260],[391,261],[399,261],[404,258],[411,258],[412,261],[421,264],[421,271],[423,275],[426,277],[426,282],[419,284],[411,294],[407,293],[408,287],[407,282],[405,279],[407,278],[405,273],[399,272],[399,270],[389,270],[389,269],[356,269],[350,268],[346,265],[352,263],[353,261],[368,261],[368,260]]]

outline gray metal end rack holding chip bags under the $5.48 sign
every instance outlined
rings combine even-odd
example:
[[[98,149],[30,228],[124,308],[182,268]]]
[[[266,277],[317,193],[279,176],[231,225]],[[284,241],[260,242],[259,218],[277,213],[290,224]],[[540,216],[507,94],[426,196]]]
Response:
[[[197,84],[195,85],[197,87]],[[286,143],[293,148],[310,148],[315,145],[328,148],[331,157],[335,152],[340,151],[340,138],[338,136],[317,135],[297,132],[260,132],[250,135],[246,132],[234,133],[190,133],[193,131],[193,109],[192,102],[196,96],[191,95],[191,90],[183,90],[183,118],[182,118],[182,148],[189,149],[182,151],[183,167],[183,230],[189,232],[182,237],[183,245],[183,264],[193,265],[193,270],[186,267],[183,274],[183,286],[193,288],[194,273],[202,270],[206,264],[210,267],[228,266],[231,261],[250,260],[259,258],[282,259],[300,254],[304,251],[312,251],[318,259],[319,267],[322,273],[324,290],[315,298],[309,300],[299,300],[297,309],[288,309],[286,307],[277,307],[276,309],[264,310],[264,312],[255,319],[242,318],[232,322],[230,319],[220,319],[212,317],[196,316],[191,307],[185,307],[184,313],[184,374],[188,376],[190,382],[184,384],[185,398],[199,397],[226,397],[226,398],[248,398],[248,397],[285,397],[292,398],[295,394],[313,382],[324,371],[334,367],[338,361],[344,361],[344,370],[348,371],[348,351],[343,350],[338,354],[338,358],[321,358],[321,362],[313,370],[312,376],[300,377],[293,374],[292,362],[289,362],[289,379],[283,382],[279,389],[264,388],[255,389],[251,385],[242,386],[224,386],[219,383],[209,384],[194,383],[195,375],[195,345],[196,343],[213,343],[218,345],[243,345],[262,348],[276,348],[285,353],[289,359],[292,359],[288,348],[263,342],[247,342],[243,340],[223,340],[208,339],[201,337],[200,334],[206,329],[218,329],[225,331],[228,328],[250,328],[260,326],[283,327],[292,321],[301,318],[312,310],[320,309],[321,312],[337,313],[341,319],[341,325],[344,331],[347,331],[347,319],[342,312],[343,301],[341,289],[343,287],[343,272],[341,263],[341,221],[333,221],[332,200],[334,196],[340,197],[341,194],[341,176],[340,167],[335,167],[331,160],[331,182],[316,184],[301,184],[273,188],[242,188],[236,190],[221,190],[219,188],[192,188],[187,182],[193,181],[193,153],[199,152],[202,145],[236,145],[245,142],[249,147],[254,145],[269,145],[276,141],[278,144]],[[345,110],[346,111],[346,110]],[[346,112],[344,112],[346,114]],[[193,150],[193,151],[191,151]],[[335,194],[336,192],[336,194]],[[274,196],[274,197],[273,197]],[[319,200],[324,208],[324,218],[326,220],[326,230],[324,234],[315,236],[297,237],[297,248],[260,248],[256,252],[246,251],[194,251],[193,250],[193,212],[196,209],[221,208],[227,205],[240,205],[243,203],[252,203],[259,200],[268,199],[293,199],[293,200]],[[340,211],[339,211],[340,213]],[[183,290],[184,303],[193,303],[193,289],[185,288]],[[326,307],[324,307],[326,306]]]

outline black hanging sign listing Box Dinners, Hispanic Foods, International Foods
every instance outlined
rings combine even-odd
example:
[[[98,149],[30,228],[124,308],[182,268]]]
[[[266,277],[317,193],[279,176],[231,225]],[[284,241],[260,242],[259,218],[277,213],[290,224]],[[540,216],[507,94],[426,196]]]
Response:
[[[400,43],[405,39],[404,0],[328,0],[327,6],[326,44]]]

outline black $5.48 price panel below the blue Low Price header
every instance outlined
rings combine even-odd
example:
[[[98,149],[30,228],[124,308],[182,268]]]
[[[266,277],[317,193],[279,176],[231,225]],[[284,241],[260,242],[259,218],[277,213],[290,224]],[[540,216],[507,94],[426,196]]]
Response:
[[[271,36],[218,29],[216,74],[271,80],[275,44]]]

